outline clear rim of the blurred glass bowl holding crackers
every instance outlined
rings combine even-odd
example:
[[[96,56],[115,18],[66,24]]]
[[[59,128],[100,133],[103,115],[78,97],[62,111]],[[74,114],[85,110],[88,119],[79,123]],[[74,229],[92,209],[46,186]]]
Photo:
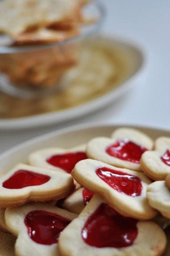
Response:
[[[51,47],[61,47],[65,44],[69,44],[77,40],[79,41],[86,38],[87,36],[91,36],[93,33],[98,32],[99,29],[101,28],[103,21],[105,20],[105,17],[106,17],[106,8],[105,8],[105,5],[100,0],[92,0],[90,3],[87,4],[87,6],[89,5],[94,5],[95,8],[98,10],[99,20],[97,20],[96,23],[92,24],[92,28],[91,28],[91,24],[85,25],[88,29],[87,31],[82,32],[81,35],[74,36],[72,38],[63,40],[61,42],[53,42],[53,43],[47,43],[47,44],[25,45],[25,46],[18,46],[18,47],[17,46],[0,46],[0,54],[30,52],[34,50],[40,50],[40,49],[51,48]]]

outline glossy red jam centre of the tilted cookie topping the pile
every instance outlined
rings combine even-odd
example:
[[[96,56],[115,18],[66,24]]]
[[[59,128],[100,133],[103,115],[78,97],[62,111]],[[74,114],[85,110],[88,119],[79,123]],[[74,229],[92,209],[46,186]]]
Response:
[[[138,176],[107,167],[98,168],[95,172],[111,188],[122,194],[140,196],[142,193],[142,182]]]

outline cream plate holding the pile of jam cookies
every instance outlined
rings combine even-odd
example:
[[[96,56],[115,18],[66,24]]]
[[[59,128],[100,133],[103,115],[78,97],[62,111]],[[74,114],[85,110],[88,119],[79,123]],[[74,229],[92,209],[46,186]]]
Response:
[[[39,136],[35,139],[24,142],[2,154],[0,156],[0,174],[7,172],[10,168],[19,162],[27,163],[28,155],[40,148],[71,148],[76,145],[86,143],[88,140],[96,136],[111,136],[111,133],[114,131],[114,129],[119,128],[120,126],[122,127],[123,125],[79,125]],[[142,132],[146,132],[146,134],[148,134],[153,139],[156,139],[158,136],[170,136],[170,131],[166,130],[146,128],[141,126],[134,126],[134,128],[138,128]],[[170,238],[170,232],[167,235],[168,238]],[[169,243],[164,256],[170,256]]]

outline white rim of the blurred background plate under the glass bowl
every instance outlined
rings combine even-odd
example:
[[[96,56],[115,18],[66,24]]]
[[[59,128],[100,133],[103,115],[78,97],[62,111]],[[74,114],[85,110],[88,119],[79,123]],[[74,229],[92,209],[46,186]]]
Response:
[[[96,36],[94,37],[96,38]],[[73,108],[18,118],[0,118],[0,130],[37,128],[42,127],[43,125],[49,126],[52,124],[60,124],[68,120],[75,120],[81,116],[86,116],[88,113],[95,112],[111,104],[111,102],[119,99],[120,96],[130,90],[130,88],[135,84],[134,81],[137,80],[137,78],[140,80],[140,77],[145,71],[147,60],[146,51],[142,45],[138,44],[135,40],[130,40],[128,37],[126,38],[123,36],[113,36],[110,33],[105,32],[98,34],[97,37],[101,38],[102,40],[104,39],[107,41],[114,41],[116,44],[124,44],[127,45],[127,47],[134,48],[134,50],[139,53],[141,58],[141,65],[138,70],[118,87],[113,88],[110,92],[107,92],[102,96],[99,96],[91,101],[80,104]]]

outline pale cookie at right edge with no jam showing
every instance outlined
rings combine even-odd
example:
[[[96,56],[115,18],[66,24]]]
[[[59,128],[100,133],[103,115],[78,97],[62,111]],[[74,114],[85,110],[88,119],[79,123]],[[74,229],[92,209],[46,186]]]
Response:
[[[155,181],[147,187],[146,196],[149,204],[170,219],[170,190],[165,181]]]

